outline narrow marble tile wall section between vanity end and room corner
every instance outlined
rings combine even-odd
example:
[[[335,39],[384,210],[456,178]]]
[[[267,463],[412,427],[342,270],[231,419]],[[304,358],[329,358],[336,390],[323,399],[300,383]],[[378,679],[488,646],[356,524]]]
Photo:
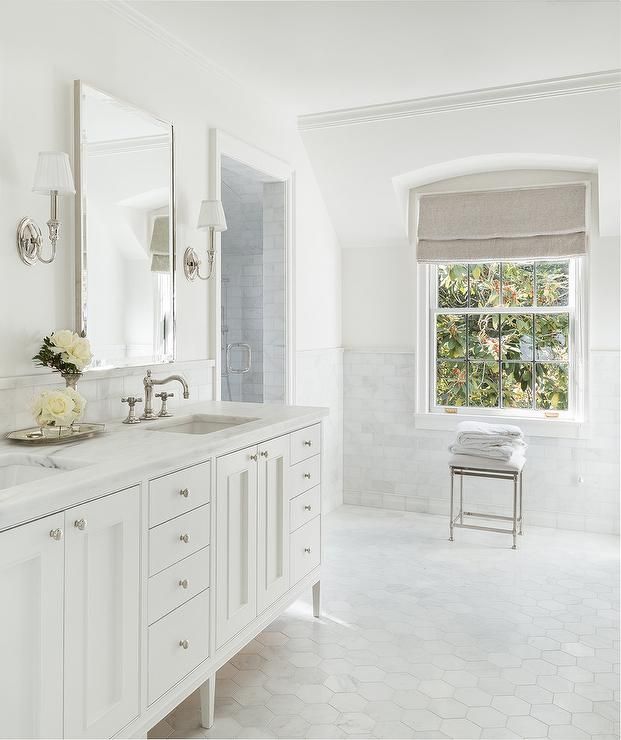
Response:
[[[343,503],[343,350],[311,349],[296,353],[295,403],[325,406],[321,507],[323,513]]]

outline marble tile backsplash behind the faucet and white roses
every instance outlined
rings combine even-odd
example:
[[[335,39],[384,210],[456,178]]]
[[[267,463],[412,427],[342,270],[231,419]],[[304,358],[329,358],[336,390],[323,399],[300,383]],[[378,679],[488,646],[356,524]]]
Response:
[[[164,365],[151,365],[155,377],[166,377],[172,373],[184,376],[190,387],[190,398],[185,400],[181,386],[172,382],[167,390],[175,395],[168,406],[178,413],[183,412],[184,404],[196,401],[209,401],[213,398],[212,360],[174,362]],[[78,391],[87,401],[85,421],[122,421],[127,416],[127,404],[121,398],[132,395],[143,398],[146,367],[117,368],[114,370],[94,370],[85,372],[78,384]],[[32,401],[37,393],[53,387],[63,388],[65,381],[58,373],[42,372],[19,378],[0,378],[0,434],[13,429],[33,426]],[[159,399],[154,398],[154,408],[159,410]],[[139,414],[143,404],[138,404]]]

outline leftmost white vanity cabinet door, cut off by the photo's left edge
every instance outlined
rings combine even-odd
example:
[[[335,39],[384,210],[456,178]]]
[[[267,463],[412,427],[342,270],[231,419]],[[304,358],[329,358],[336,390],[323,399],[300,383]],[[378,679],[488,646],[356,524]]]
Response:
[[[0,736],[63,734],[63,515],[0,533]]]

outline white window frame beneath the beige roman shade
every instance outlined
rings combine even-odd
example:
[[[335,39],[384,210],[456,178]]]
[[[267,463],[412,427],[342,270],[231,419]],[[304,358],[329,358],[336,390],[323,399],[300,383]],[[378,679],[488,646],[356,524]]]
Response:
[[[476,308],[440,308],[437,303],[438,280],[435,264],[419,263],[418,294],[419,320],[418,334],[421,341],[419,347],[418,377],[421,382],[417,387],[417,414],[425,415],[461,415],[470,417],[491,417],[498,419],[574,421],[581,422],[585,416],[584,387],[586,384],[587,367],[585,362],[585,348],[587,319],[587,257],[569,257],[569,298],[566,306],[482,306]],[[519,262],[560,262],[561,259],[541,260],[497,260],[505,263]],[[458,261],[456,260],[456,263]],[[490,260],[491,262],[491,260]],[[459,264],[468,264],[459,262]],[[469,264],[485,264],[480,261]],[[534,299],[535,300],[535,299]],[[568,370],[569,370],[569,407],[567,410],[555,409],[523,409],[502,408],[500,406],[442,406],[436,402],[437,380],[437,343],[436,317],[439,314],[569,314],[568,330]],[[422,357],[421,357],[422,356]],[[464,365],[466,362],[464,362]]]

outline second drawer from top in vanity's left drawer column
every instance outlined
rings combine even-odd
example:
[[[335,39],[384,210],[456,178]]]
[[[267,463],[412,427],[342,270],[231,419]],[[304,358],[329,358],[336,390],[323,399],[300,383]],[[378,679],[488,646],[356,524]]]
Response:
[[[149,575],[209,544],[210,504],[149,530]]]

